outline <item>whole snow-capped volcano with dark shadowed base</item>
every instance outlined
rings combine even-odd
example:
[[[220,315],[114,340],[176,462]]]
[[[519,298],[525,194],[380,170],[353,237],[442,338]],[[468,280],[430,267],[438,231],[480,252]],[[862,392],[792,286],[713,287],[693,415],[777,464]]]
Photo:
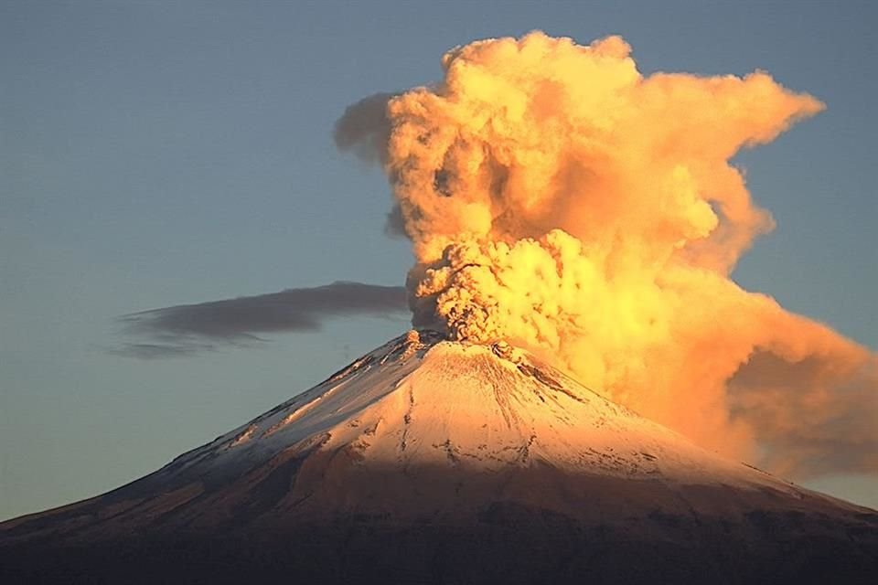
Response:
[[[504,343],[412,331],[108,494],[0,581],[873,582],[878,512],[706,452]]]

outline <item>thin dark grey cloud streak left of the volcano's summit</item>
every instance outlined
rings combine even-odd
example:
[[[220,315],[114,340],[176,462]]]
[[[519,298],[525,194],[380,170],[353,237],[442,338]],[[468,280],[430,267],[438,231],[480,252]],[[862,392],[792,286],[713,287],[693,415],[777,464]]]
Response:
[[[332,282],[313,288],[179,304],[119,317],[126,335],[142,342],[111,350],[143,359],[191,356],[219,345],[251,346],[262,334],[319,331],[330,319],[408,314],[405,288]]]

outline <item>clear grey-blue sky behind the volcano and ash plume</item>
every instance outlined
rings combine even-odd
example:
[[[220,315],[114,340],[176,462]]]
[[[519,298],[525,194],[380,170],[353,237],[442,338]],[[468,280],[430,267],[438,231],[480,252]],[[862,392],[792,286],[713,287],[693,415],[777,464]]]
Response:
[[[733,277],[878,348],[878,8],[653,4],[0,2],[0,519],[152,472],[405,331],[348,285],[311,291],[412,264],[333,128],[477,38],[620,34],[644,73],[764,69],[824,101],[736,158],[777,228]],[[313,314],[185,351],[120,319],[237,297]],[[874,475],[806,485],[878,507]]]

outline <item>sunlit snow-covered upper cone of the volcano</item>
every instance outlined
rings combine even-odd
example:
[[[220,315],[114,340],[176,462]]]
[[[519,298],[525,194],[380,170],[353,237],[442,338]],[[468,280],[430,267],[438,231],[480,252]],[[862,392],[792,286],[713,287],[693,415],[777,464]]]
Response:
[[[290,452],[343,453],[355,467],[410,474],[424,467],[470,476],[544,465],[805,494],[695,447],[517,349],[463,345],[432,332],[381,346],[163,473],[233,474]]]

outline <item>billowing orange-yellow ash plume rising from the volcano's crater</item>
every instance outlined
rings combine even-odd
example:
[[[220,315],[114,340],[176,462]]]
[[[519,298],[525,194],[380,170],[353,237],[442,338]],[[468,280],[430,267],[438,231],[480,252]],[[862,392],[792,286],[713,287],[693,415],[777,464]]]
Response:
[[[783,473],[878,470],[875,356],[730,278],[774,223],[729,160],[823,104],[760,71],[644,77],[629,53],[479,41],[348,109],[337,144],[377,147],[412,240],[414,323],[527,347]]]

